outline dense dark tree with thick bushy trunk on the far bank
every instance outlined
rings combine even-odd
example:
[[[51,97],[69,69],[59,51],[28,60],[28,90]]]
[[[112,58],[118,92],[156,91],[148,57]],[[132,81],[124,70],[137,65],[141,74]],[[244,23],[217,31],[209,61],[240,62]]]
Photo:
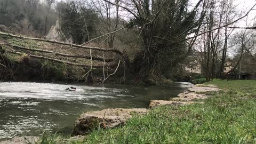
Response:
[[[198,1],[196,7],[203,1]],[[141,75],[169,75],[170,70],[185,57],[186,42],[181,42],[198,26],[196,11],[188,11],[188,0],[157,0],[134,2],[138,14],[131,25],[138,27],[143,39],[143,52],[135,61],[135,72]],[[151,9],[150,9],[151,7]]]

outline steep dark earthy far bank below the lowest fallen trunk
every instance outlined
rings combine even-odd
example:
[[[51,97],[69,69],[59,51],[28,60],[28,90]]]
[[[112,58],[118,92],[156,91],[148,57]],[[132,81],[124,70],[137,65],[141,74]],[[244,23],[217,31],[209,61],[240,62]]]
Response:
[[[84,62],[88,63],[88,61]],[[100,62],[94,63],[97,64]],[[145,86],[172,85],[175,80],[160,77],[161,79],[158,79],[158,81],[155,79],[142,81],[141,78],[137,78],[135,75],[124,75],[123,68],[118,69],[115,75],[110,75],[114,73],[114,70],[114,68],[105,68],[105,76],[110,76],[104,82],[105,84],[130,84]],[[0,46],[0,82],[40,82],[87,85],[102,83],[104,79],[102,68],[93,68],[91,73],[88,73],[88,71],[90,71],[88,68],[70,66],[66,65],[65,63],[52,62],[48,60],[38,60],[30,58],[29,55],[26,54],[15,55],[7,52],[1,52]]]

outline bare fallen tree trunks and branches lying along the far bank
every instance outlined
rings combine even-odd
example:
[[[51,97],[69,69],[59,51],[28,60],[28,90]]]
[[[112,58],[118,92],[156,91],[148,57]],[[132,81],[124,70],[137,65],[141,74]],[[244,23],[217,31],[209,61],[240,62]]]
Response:
[[[100,48],[100,47],[84,46],[84,45],[94,41],[95,39],[99,39],[101,37],[105,37],[107,35],[114,34],[117,31],[122,30],[122,29],[124,29],[124,27],[120,28],[120,29],[118,29],[116,31],[113,31],[111,33],[107,33],[105,35],[101,35],[99,37],[93,38],[90,41],[88,41],[88,42],[86,42],[86,43],[84,43],[82,45],[65,43],[65,42],[59,42],[59,41],[52,41],[52,40],[43,39],[43,38],[33,38],[33,37],[26,37],[26,36],[17,36],[17,35],[13,35],[13,34],[3,33],[3,32],[0,31],[0,35],[9,36],[9,37],[12,37],[12,38],[18,38],[18,39],[10,38],[7,42],[0,43],[0,45],[5,45],[5,47],[7,48],[7,50],[5,50],[5,52],[7,52],[7,53],[18,54],[18,55],[27,55],[27,57],[29,57],[29,58],[43,59],[43,60],[49,60],[49,61],[53,61],[53,62],[64,63],[65,65],[68,65],[68,66],[83,67],[85,70],[90,69],[89,71],[87,71],[87,73],[85,73],[85,75],[82,76],[82,78],[86,77],[85,81],[87,81],[87,77],[90,74],[92,76],[92,69],[103,68],[103,77],[104,77],[103,78],[103,82],[104,82],[110,76],[110,75],[108,75],[107,78],[105,79],[105,68],[110,68],[111,69],[111,67],[116,67],[117,66],[117,63],[113,62],[114,59],[105,58],[104,52],[112,52],[112,53],[116,54],[116,59],[119,60],[119,63],[118,63],[118,66],[117,66],[116,69],[118,69],[119,64],[121,62],[121,59],[123,59],[123,57],[124,57],[123,53],[121,51],[119,51],[119,50],[116,50],[116,49],[103,49],[103,48]],[[55,51],[49,51],[49,50],[44,50],[44,49],[32,49],[30,47],[15,45],[15,43],[22,42],[22,41],[25,41],[25,40],[41,41],[41,42],[46,42],[46,43],[67,45],[67,46],[71,46],[71,48],[67,49],[67,50],[55,52]],[[67,52],[67,51],[70,51],[70,50],[73,50],[73,49],[86,49],[86,50],[90,50],[90,56],[63,53],[63,52]],[[103,58],[100,57],[100,56],[97,56],[97,55],[92,56],[92,50],[103,52]],[[41,53],[40,54],[37,54],[37,53],[35,54],[35,53],[30,53],[28,51],[31,51],[31,52],[41,52]],[[48,53],[48,54],[44,54],[44,53]],[[63,57],[63,59],[61,59],[61,57],[55,58],[55,57],[53,57],[54,55],[61,56],[61,57]],[[66,60],[66,58],[69,58],[69,60],[74,60],[74,61],[70,62],[70,61]],[[91,65],[88,65],[87,62],[86,62],[86,64],[83,63],[80,59],[76,60],[76,59],[70,59],[70,58],[90,59]],[[98,63],[98,64],[93,63],[94,60],[102,61],[103,65],[101,65],[101,63],[98,63],[98,62],[95,62],[95,63]],[[111,62],[111,63],[107,63],[107,62]],[[108,73],[108,71],[107,71],[107,73]],[[96,77],[98,77],[98,76],[96,76]],[[82,78],[79,77],[78,81],[81,80]]]

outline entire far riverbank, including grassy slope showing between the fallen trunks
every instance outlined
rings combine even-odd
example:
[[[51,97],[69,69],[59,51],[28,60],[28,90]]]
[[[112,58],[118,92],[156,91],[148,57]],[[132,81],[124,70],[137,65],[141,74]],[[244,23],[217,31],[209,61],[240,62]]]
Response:
[[[11,37],[9,36],[0,36],[1,43],[6,43],[10,39]],[[13,53],[13,49],[16,53]],[[119,59],[118,55],[105,53],[105,59],[103,60],[101,53],[92,52],[94,60],[91,61],[89,50],[69,49],[70,47],[65,45],[60,46],[58,44],[29,40],[17,42],[15,46],[1,45],[0,82],[98,84],[102,83],[104,78],[107,77],[106,81],[104,81],[105,84],[116,83],[148,86],[171,85],[174,81],[179,80],[190,82],[190,77],[182,76],[166,78],[161,75],[153,75],[150,78],[143,79],[137,73],[130,71],[132,69],[128,67],[130,64],[124,66],[123,62],[121,62],[118,69],[116,69],[118,60],[114,61],[114,59]],[[45,53],[45,51],[50,53]],[[53,51],[54,53],[51,53]],[[65,53],[58,53],[62,51]],[[36,55],[36,57],[33,57],[33,55]],[[63,55],[66,56],[63,57]],[[81,65],[86,65],[86,67]],[[91,65],[93,65],[92,68]],[[103,65],[104,70],[103,67],[100,67]]]

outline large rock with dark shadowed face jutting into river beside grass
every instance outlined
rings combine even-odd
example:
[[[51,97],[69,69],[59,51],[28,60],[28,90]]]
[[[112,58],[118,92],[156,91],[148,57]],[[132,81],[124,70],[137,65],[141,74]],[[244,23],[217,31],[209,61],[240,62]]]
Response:
[[[84,135],[99,126],[106,129],[123,125],[127,119],[132,117],[132,113],[146,114],[147,109],[117,108],[84,113],[76,120],[73,135]]]

